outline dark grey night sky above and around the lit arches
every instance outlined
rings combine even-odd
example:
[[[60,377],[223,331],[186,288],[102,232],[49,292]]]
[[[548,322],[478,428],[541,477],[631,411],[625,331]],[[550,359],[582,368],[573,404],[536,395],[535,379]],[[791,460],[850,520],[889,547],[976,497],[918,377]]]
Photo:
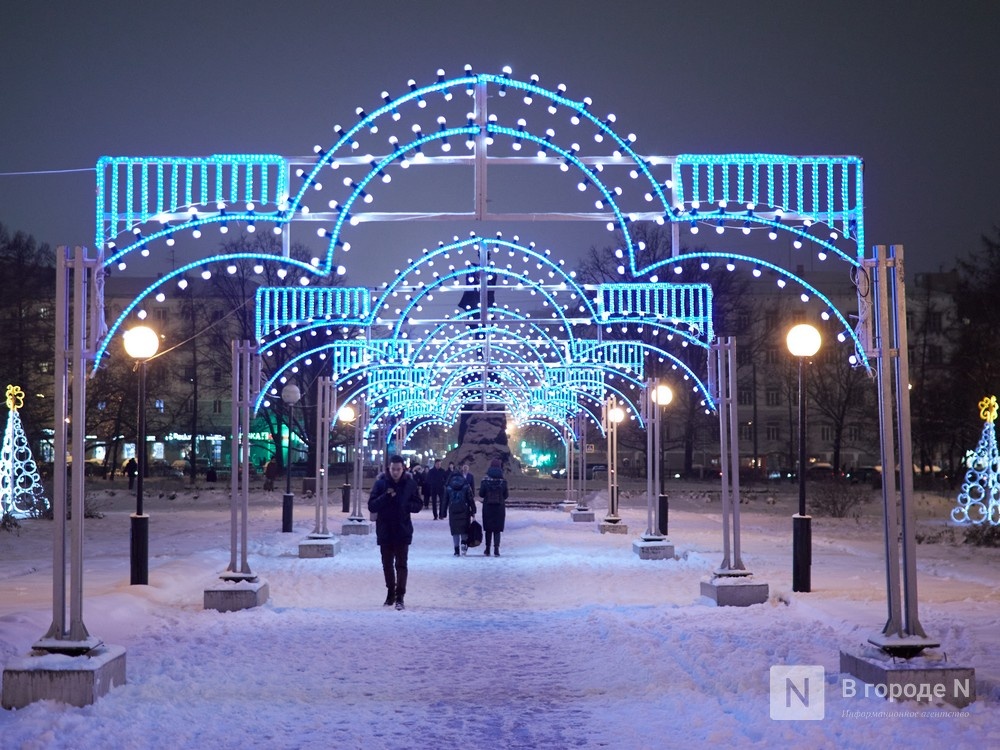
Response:
[[[1000,224],[997,29],[992,0],[0,0],[0,222],[92,245],[102,155],[310,154],[470,63],[592,97],[646,155],[861,156],[869,243],[948,268]]]

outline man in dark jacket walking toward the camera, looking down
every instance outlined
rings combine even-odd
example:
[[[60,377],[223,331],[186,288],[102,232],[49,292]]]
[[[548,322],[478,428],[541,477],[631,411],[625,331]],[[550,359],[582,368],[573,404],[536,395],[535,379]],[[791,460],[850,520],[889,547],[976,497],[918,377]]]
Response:
[[[389,459],[389,471],[375,480],[368,496],[368,510],[376,513],[375,539],[382,553],[382,572],[388,591],[385,604],[403,609],[406,595],[406,561],[413,541],[411,513],[422,507],[416,480],[406,471],[402,456]]]

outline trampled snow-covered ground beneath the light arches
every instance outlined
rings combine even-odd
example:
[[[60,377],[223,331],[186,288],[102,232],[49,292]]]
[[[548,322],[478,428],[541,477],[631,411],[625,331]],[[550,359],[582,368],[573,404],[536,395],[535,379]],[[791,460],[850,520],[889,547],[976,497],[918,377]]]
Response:
[[[129,585],[128,493],[95,495],[105,515],[86,521],[84,621],[127,649],[128,683],[84,708],[0,711],[0,747],[1000,745],[1000,551],[948,541],[941,500],[921,498],[921,537],[944,540],[919,546],[920,619],[949,662],[976,669],[979,700],[964,710],[843,694],[839,652],[860,652],[886,620],[877,508],[814,520],[813,591],[793,593],[794,498],[754,496],[743,558],[770,599],[749,608],[700,596],[722,554],[720,508],[704,493],[672,492],[669,561],[632,551],[644,507],[623,509],[627,535],[512,509],[499,559],[455,558],[446,522],[424,512],[397,612],[382,606],[374,534],[300,559],[312,506],[300,498],[295,533],[282,534],[280,494],[258,492],[250,564],[270,599],[223,614],[202,599],[229,560],[228,497],[194,494],[146,500],[149,586]],[[50,522],[0,533],[0,663],[48,629],[51,546]],[[770,718],[773,665],[825,668],[822,720]]]

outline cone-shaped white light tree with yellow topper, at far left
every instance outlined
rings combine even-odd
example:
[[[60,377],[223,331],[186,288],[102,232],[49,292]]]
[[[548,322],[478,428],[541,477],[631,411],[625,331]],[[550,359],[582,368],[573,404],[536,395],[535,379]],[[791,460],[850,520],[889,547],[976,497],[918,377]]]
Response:
[[[24,406],[20,386],[7,386],[7,429],[0,459],[0,519],[39,516],[49,507],[38,476],[38,466],[21,427],[17,411]]]

